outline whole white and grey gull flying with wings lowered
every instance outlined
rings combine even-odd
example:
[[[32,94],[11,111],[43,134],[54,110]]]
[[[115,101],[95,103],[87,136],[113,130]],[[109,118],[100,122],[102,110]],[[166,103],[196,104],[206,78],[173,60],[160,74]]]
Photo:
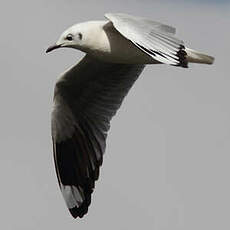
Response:
[[[105,17],[71,26],[46,50],[68,47],[86,53],[57,81],[52,111],[56,174],[74,218],[88,212],[111,118],[145,65],[187,68],[190,62],[214,61],[185,47],[171,26],[121,13]]]

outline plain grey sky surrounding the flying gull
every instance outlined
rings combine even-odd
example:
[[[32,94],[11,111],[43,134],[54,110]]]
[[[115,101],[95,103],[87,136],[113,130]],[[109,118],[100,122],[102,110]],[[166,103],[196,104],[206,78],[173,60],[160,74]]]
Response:
[[[123,12],[173,25],[212,66],[148,66],[112,121],[89,213],[58,188],[50,113],[56,78],[83,54],[45,49],[70,25]],[[0,228],[230,229],[230,4],[220,1],[2,1]]]

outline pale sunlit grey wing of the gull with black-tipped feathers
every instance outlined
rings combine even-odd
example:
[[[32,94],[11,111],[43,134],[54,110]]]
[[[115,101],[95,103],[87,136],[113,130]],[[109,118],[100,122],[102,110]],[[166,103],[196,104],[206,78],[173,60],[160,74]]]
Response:
[[[155,60],[187,67],[185,46],[174,36],[175,28],[127,14],[105,14],[105,17],[117,31]]]

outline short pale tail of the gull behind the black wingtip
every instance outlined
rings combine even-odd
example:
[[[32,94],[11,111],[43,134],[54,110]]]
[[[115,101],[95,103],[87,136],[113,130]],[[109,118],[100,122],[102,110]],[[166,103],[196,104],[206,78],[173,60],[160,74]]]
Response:
[[[186,47],[185,52],[187,53],[188,62],[203,64],[213,64],[214,62],[214,57],[202,54],[196,50],[192,50]]]

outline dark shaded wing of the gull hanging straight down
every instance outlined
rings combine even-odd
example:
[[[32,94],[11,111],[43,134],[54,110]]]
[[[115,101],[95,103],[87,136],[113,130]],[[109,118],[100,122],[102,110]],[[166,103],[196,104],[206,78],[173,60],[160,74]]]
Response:
[[[102,63],[85,56],[56,84],[54,160],[59,186],[74,218],[88,211],[110,120],[143,68]]]

